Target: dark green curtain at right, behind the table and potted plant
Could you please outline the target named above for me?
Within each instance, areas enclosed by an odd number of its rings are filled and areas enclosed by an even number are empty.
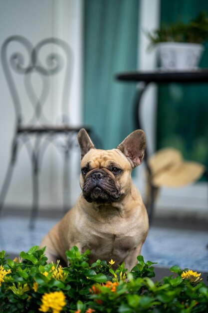
[[[208,11],[207,0],[161,0],[161,22],[186,22],[201,10]],[[208,42],[200,67],[208,67]],[[208,84],[161,86],[157,125],[157,148],[174,146],[208,165]]]

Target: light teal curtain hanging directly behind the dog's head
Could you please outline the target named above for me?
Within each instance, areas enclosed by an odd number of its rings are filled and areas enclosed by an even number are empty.
[[[136,70],[139,0],[84,1],[83,120],[102,147],[116,147],[134,130],[135,84],[116,81]]]

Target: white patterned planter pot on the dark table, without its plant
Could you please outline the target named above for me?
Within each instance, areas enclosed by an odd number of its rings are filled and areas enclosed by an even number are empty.
[[[161,68],[191,70],[198,67],[204,46],[198,43],[161,42],[156,49]]]

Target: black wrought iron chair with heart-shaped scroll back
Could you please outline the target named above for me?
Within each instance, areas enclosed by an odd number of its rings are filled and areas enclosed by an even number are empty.
[[[12,43],[13,42],[13,43]],[[11,48],[9,47],[15,42],[15,49],[18,47],[19,52],[14,52],[8,56]],[[46,54],[46,47],[53,46],[57,52]],[[22,49],[27,53],[27,61],[23,55]],[[45,51],[46,64],[40,61],[40,51]],[[50,50],[51,51],[51,50]],[[61,52],[61,53],[60,53]],[[48,52],[47,52],[48,53]],[[42,54],[41,54],[42,55]],[[6,193],[11,181],[13,167],[17,158],[19,148],[25,144],[32,165],[32,184],[33,184],[33,200],[30,216],[30,227],[34,226],[34,219],[38,212],[39,185],[38,175],[40,172],[40,164],[43,154],[52,141],[54,145],[61,149],[64,157],[63,183],[65,188],[69,188],[68,164],[71,150],[77,145],[76,135],[80,127],[70,126],[69,120],[69,91],[73,70],[73,53],[69,45],[59,38],[47,38],[38,42],[35,46],[25,37],[14,35],[8,37],[2,44],[1,62],[3,71],[7,80],[8,88],[12,97],[15,109],[15,133],[11,146],[11,158],[7,168],[6,176],[0,192],[0,211],[2,209]],[[65,64],[64,64],[65,62]],[[25,65],[26,63],[26,65]],[[43,107],[48,98],[51,87],[51,76],[64,73],[62,99],[59,122],[55,124],[46,117]],[[32,75],[38,75],[42,80],[42,87],[38,86],[38,90],[33,85]],[[26,121],[23,117],[22,103],[20,94],[14,82],[14,75],[23,78],[25,94],[29,99],[32,107],[32,117]],[[19,79],[18,78],[18,79]],[[42,91],[41,91],[42,90]],[[40,94],[39,97],[37,94]],[[29,104],[27,103],[27,109]],[[86,128],[86,127],[85,127]],[[90,132],[89,128],[86,128]],[[61,136],[61,140],[60,139]],[[64,194],[64,192],[63,192]],[[69,208],[69,196],[63,199],[64,211]]]

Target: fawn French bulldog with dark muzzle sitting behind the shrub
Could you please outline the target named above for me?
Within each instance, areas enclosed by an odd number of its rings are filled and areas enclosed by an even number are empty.
[[[75,206],[45,235],[48,262],[62,258],[76,245],[91,250],[89,263],[97,259],[125,262],[129,270],[148,233],[148,215],[131,171],[142,163],[145,134],[130,133],[115,149],[96,149],[84,128],[78,133],[81,152],[80,194]]]

